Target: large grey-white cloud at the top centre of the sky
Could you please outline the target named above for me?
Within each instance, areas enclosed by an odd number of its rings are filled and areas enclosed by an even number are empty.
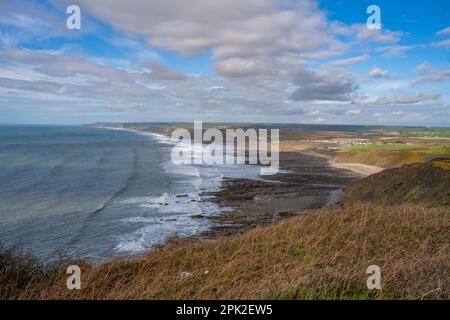
[[[144,1],[82,0],[90,13],[156,47],[220,58],[273,56],[326,46],[326,16],[315,2],[299,0]]]

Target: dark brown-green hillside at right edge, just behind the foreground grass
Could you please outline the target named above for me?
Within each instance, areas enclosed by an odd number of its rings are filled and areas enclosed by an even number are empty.
[[[450,206],[450,159],[404,165],[362,179],[344,193],[344,205],[355,202]]]

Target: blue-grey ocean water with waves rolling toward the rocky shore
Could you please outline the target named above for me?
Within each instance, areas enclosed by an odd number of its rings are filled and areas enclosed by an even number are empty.
[[[256,166],[177,166],[174,141],[83,126],[0,127],[0,242],[45,262],[139,254],[169,236],[207,230],[208,195]],[[189,148],[189,146],[186,146]]]

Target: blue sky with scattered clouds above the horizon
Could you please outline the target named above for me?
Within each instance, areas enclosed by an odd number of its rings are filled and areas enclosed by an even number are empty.
[[[450,126],[449,89],[448,0],[0,1],[0,123]]]

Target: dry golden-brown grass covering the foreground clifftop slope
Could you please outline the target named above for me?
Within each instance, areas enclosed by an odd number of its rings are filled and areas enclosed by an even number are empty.
[[[82,263],[79,291],[67,290],[56,268],[2,298],[449,299],[449,239],[448,207],[357,205],[214,242],[172,240],[134,260]],[[366,287],[372,264],[381,267],[381,291]],[[2,287],[14,287],[6,280],[13,285],[3,277]]]

